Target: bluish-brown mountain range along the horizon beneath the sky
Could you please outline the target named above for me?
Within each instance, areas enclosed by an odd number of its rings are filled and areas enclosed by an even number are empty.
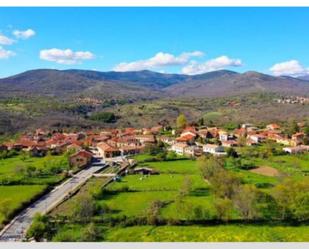
[[[259,72],[219,70],[200,75],[148,70],[98,72],[37,69],[0,79],[0,96],[40,95],[129,99],[219,97],[252,92],[309,95],[308,78],[275,77]]]

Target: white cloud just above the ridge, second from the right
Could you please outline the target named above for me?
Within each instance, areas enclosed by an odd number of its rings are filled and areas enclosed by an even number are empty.
[[[203,63],[198,63],[196,61],[191,61],[188,65],[182,68],[182,73],[194,75],[202,74],[211,71],[221,70],[227,67],[240,67],[242,62],[240,59],[229,58],[225,55],[205,61]]]

